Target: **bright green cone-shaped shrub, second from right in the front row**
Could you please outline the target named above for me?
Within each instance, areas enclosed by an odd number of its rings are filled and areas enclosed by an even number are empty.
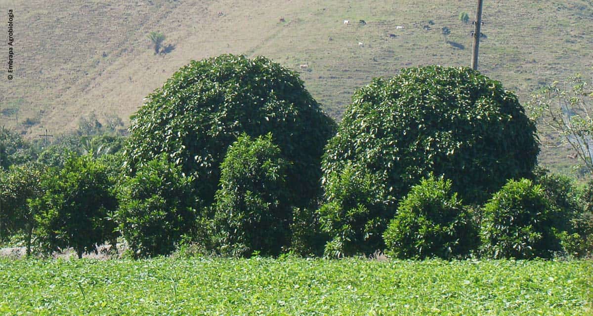
[[[470,214],[451,191],[451,180],[432,176],[400,202],[383,238],[385,253],[400,259],[466,256],[479,240]]]

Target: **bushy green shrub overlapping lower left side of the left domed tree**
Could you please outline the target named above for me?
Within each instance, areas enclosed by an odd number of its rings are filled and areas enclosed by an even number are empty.
[[[192,180],[163,154],[123,181],[116,220],[135,257],[170,254],[192,232],[199,206]]]

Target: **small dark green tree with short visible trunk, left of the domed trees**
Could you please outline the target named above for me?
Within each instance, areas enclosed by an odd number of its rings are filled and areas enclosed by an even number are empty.
[[[33,200],[39,237],[48,251],[72,247],[78,258],[104,242],[107,216],[117,207],[107,168],[90,156],[69,157],[62,170],[42,179],[44,194]]]

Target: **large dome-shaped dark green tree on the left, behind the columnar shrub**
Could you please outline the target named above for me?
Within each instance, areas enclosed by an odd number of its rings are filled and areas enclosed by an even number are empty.
[[[241,133],[272,133],[289,162],[294,205],[318,194],[323,147],[335,123],[321,111],[295,72],[263,57],[222,55],[179,69],[132,116],[127,164],[133,172],[165,152],[212,203],[219,165]]]

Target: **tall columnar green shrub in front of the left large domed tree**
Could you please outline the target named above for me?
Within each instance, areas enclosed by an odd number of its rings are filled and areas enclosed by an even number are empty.
[[[222,254],[277,255],[288,247],[292,209],[287,168],[271,134],[255,139],[242,135],[232,143],[216,191],[215,244]]]

